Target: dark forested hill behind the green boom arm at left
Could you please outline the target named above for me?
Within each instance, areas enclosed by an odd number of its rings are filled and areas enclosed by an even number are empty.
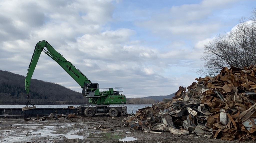
[[[37,79],[31,79],[30,98],[32,104],[84,104],[86,100],[82,93]],[[26,103],[25,77],[0,70],[0,104]]]

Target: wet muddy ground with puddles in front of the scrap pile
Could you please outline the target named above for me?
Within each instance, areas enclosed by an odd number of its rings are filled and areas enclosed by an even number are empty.
[[[195,135],[174,135],[146,133],[125,127],[122,118],[108,116],[61,118],[60,120],[0,119],[0,142],[15,143],[233,143],[235,141],[197,137]],[[101,128],[96,129],[101,125]],[[104,131],[107,130],[107,131]],[[249,143],[255,141],[242,141]]]

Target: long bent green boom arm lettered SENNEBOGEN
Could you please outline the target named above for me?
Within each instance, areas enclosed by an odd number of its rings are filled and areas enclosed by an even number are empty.
[[[45,50],[44,47],[48,50]],[[82,88],[84,83],[92,83],[85,75],[83,75],[79,69],[77,69],[72,63],[67,61],[60,53],[58,53],[47,41],[39,41],[36,46],[30,61],[27,76],[25,78],[25,89],[27,95],[29,93],[29,86],[32,75],[36,68],[36,64],[40,57],[41,52],[44,50],[45,54],[50,56],[54,61],[56,61]]]

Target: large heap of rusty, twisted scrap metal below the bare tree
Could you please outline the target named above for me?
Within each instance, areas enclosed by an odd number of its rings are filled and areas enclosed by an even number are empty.
[[[171,101],[139,109],[126,122],[145,132],[255,140],[256,67],[225,67],[215,77],[196,80],[179,87]]]

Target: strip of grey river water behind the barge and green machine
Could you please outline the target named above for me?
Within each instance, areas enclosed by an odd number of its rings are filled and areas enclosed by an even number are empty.
[[[26,105],[0,105],[0,108],[23,108]],[[36,108],[68,108],[68,106],[78,107],[80,105],[35,105]],[[128,113],[136,113],[136,110],[145,108],[148,106],[152,106],[152,104],[127,104],[127,112]]]

